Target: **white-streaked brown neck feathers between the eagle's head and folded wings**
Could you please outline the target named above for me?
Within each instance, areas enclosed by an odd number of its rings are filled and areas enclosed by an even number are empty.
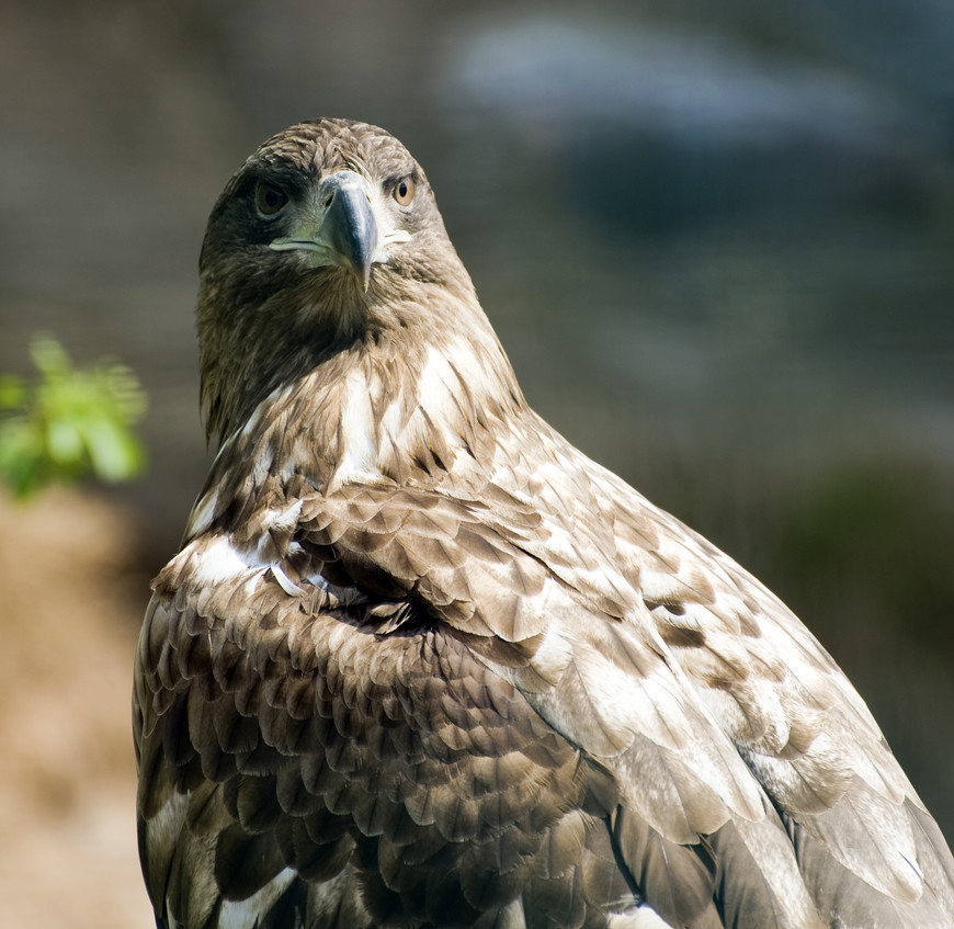
[[[489,468],[493,435],[525,409],[489,325],[339,351],[274,387],[225,439],[188,537],[238,523],[255,500],[348,483],[436,486]]]

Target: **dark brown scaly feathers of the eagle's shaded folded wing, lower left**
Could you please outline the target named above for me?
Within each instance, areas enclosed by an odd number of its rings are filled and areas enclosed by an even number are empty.
[[[422,650],[418,631],[368,648],[361,623],[306,613],[254,567],[232,582],[270,590],[245,602],[243,648],[234,616],[197,621],[198,590],[177,612],[160,586],[137,659],[144,869],[174,920],[237,919],[240,906],[274,919],[334,895],[365,920],[397,900],[435,918],[452,897],[447,913],[476,919],[555,880],[537,873],[545,838],[602,828],[580,812],[599,805],[579,750],[462,641],[435,631]],[[561,899],[595,911],[578,877],[559,880]],[[357,886],[363,903],[341,896]]]

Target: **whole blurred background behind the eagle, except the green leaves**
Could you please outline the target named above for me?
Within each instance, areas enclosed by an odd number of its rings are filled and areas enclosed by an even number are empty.
[[[0,0],[0,372],[50,331],[149,398],[136,482],[0,500],[0,924],[150,925],[198,248],[318,115],[408,145],[531,403],[803,616],[954,836],[952,48],[950,0]]]

